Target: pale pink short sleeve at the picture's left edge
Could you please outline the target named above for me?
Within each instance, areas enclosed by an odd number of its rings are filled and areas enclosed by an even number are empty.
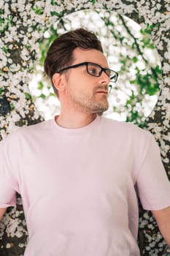
[[[0,208],[16,206],[16,143],[11,136],[0,142]]]

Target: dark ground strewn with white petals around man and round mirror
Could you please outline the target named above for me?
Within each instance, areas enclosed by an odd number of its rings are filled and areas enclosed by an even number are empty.
[[[28,81],[41,58],[39,41],[62,17],[78,10],[112,10],[132,18],[152,38],[161,59],[163,80],[158,102],[145,120],[145,129],[155,136],[163,164],[170,177],[170,4],[164,0],[0,1],[0,139],[23,125],[43,120],[36,110]],[[23,255],[27,231],[22,203],[8,209],[0,224],[0,255]],[[139,246],[142,255],[169,255],[150,212],[140,211]]]

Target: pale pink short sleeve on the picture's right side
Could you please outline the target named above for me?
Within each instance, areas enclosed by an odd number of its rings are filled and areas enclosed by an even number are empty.
[[[161,154],[155,139],[147,134],[144,159],[136,177],[136,187],[142,206],[156,211],[170,206],[170,182],[161,161]]]

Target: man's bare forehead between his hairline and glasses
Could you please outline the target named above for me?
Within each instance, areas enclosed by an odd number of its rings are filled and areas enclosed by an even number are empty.
[[[73,63],[78,64],[80,62],[89,61],[101,65],[101,67],[108,67],[107,59],[101,51],[96,49],[80,49],[73,50]]]

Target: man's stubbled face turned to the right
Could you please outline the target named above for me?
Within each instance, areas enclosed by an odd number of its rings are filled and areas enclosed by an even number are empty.
[[[73,51],[72,65],[85,61],[108,68],[107,59],[99,50],[76,48]],[[63,75],[66,81],[65,95],[75,110],[82,113],[103,113],[108,109],[107,96],[110,80],[105,72],[95,77],[88,74],[86,66],[81,66],[68,69]]]

